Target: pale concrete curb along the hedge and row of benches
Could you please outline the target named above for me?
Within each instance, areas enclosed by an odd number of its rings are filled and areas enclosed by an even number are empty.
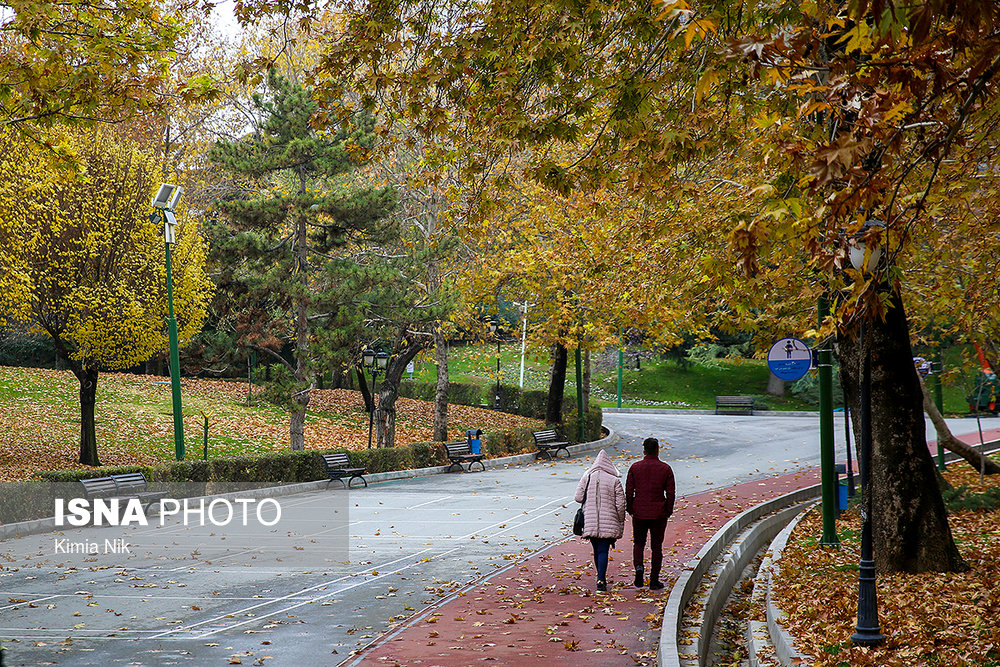
[[[620,436],[608,428],[604,427],[608,431],[608,435],[601,438],[600,440],[594,440],[591,442],[581,442],[577,445],[570,445],[566,449],[569,451],[570,456],[584,454],[596,449],[601,449],[603,447],[609,447],[616,442],[618,442]],[[487,468],[502,468],[511,465],[523,465],[526,463],[534,462],[535,454],[517,454],[514,456],[503,456],[495,459],[485,459],[483,463],[486,464]],[[365,475],[365,479],[368,480],[369,484],[377,484],[379,482],[391,482],[399,479],[411,479],[414,477],[427,477],[429,475],[441,475],[446,474],[450,466],[432,466],[430,468],[414,468],[412,470],[393,470],[390,472],[379,472],[372,473],[371,475]],[[312,482],[300,482],[297,484],[284,484],[281,486],[269,486],[260,489],[250,489],[244,491],[238,491],[233,493],[223,493],[212,496],[204,496],[205,498],[252,498],[254,500],[260,500],[261,498],[274,498],[279,496],[289,496],[296,493],[305,493],[307,491],[316,491],[320,489],[325,489],[329,486],[327,480],[321,479]],[[353,490],[357,490],[358,487],[352,487]],[[0,524],[0,541],[7,540],[12,537],[23,537],[27,535],[37,535],[38,533],[52,533],[57,530],[61,530],[62,527],[56,526],[55,517],[47,517],[44,519],[32,519],[31,521],[19,521],[17,523]]]

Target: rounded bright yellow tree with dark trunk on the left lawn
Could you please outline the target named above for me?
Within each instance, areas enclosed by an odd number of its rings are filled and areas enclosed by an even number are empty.
[[[149,218],[153,156],[111,130],[67,140],[67,179],[28,139],[0,134],[0,324],[51,336],[81,383],[80,462],[98,464],[94,398],[100,370],[129,368],[166,348],[163,230]],[[197,227],[181,225],[174,304],[182,341],[201,328],[211,283]]]

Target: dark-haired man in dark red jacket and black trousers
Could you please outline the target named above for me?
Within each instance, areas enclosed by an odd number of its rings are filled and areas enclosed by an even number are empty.
[[[674,512],[674,471],[659,459],[660,443],[646,438],[642,443],[643,459],[633,463],[625,480],[625,511],[632,515],[632,562],[635,564],[635,585],[642,586],[643,552],[646,534],[652,551],[649,571],[650,590],[663,588],[660,568],[663,566],[663,533],[667,519]]]

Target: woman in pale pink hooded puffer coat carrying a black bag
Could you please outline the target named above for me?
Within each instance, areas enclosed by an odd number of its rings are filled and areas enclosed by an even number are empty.
[[[597,590],[606,591],[608,555],[615,540],[625,532],[625,489],[618,469],[603,449],[580,479],[576,502],[583,503],[583,537],[589,538],[594,547]]]

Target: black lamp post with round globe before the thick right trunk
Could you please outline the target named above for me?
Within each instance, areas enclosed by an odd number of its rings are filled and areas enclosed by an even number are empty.
[[[869,267],[877,265],[882,249],[874,245],[870,251],[866,248],[864,236],[872,227],[884,227],[879,220],[868,220],[862,228],[857,248],[851,248],[851,264],[860,272],[867,272]],[[857,646],[881,646],[885,643],[885,635],[878,622],[878,595],[875,588],[875,553],[872,545],[872,424],[871,424],[871,346],[868,344],[868,331],[864,322],[861,323],[861,387],[858,392],[858,402],[861,404],[861,441],[859,445],[859,463],[861,464],[861,487],[864,493],[861,505],[861,562],[858,567],[858,625],[851,635],[851,641]]]

